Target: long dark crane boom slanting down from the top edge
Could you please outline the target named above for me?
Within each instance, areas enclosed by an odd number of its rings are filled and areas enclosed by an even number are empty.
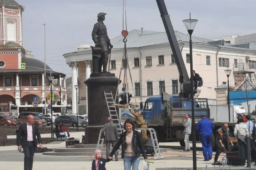
[[[178,71],[180,74],[180,82],[183,83],[184,81],[188,81],[189,80],[189,76],[186,70],[186,66],[185,63],[183,61],[181,52],[180,52],[180,48],[173,30],[173,26],[170,20],[170,16],[167,12],[164,0],[156,0],[157,5],[158,5],[158,9],[159,12],[161,14],[161,18],[163,20],[164,23],[164,28],[173,52],[173,57],[175,59],[176,65],[178,67]]]

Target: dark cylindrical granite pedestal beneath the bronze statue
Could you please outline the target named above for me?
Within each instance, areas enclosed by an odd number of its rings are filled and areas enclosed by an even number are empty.
[[[118,78],[114,73],[92,73],[85,82],[88,91],[88,126],[85,128],[85,144],[97,144],[99,131],[108,122],[108,106],[104,96],[115,96]]]

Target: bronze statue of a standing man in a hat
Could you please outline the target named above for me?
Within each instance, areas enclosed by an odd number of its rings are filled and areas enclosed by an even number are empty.
[[[108,65],[108,54],[110,53],[111,45],[110,39],[108,38],[107,28],[103,21],[105,20],[106,13],[100,12],[98,13],[98,22],[94,24],[92,30],[92,40],[95,43],[95,47],[101,47],[101,57],[99,59],[99,72],[100,73],[108,73],[107,65]],[[103,71],[101,70],[103,65]]]

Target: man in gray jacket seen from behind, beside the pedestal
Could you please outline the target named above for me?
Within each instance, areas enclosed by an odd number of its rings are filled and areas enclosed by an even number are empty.
[[[105,141],[106,141],[106,158],[108,159],[110,144],[114,148],[115,142],[118,140],[118,133],[117,133],[117,125],[112,122],[112,118],[108,118],[108,123],[104,124],[104,128],[102,132],[105,133]],[[118,153],[115,152],[115,159],[118,161]]]

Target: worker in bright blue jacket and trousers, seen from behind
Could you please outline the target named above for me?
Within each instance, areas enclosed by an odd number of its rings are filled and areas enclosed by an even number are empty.
[[[201,137],[204,161],[209,161],[212,158],[211,138],[214,125],[211,120],[205,117],[205,114],[201,114],[201,120],[197,123],[195,129]]]

